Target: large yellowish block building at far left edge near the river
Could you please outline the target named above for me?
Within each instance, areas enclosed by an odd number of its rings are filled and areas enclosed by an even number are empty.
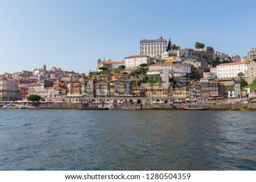
[[[0,100],[10,101],[19,99],[18,82],[9,78],[0,78]]]

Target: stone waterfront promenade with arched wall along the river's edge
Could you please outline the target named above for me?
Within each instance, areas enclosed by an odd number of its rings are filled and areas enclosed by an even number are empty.
[[[240,108],[256,108],[256,103],[243,103],[245,99],[222,99],[209,100],[205,98],[70,98],[67,101],[42,101],[28,103],[28,108],[33,109],[75,109],[82,103],[97,105],[99,108],[141,110],[141,109],[170,109],[176,110],[181,107],[209,108],[210,110],[238,110]],[[26,102],[26,101],[24,101]]]

